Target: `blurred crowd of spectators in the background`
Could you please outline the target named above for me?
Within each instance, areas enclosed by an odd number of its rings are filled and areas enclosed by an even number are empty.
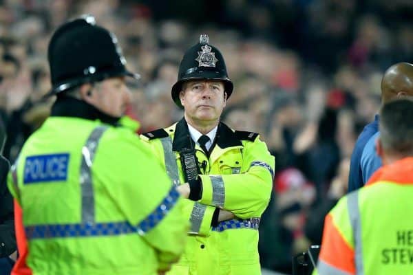
[[[127,67],[140,132],[169,126],[178,64],[200,34],[226,59],[234,93],[223,120],[260,133],[276,159],[273,199],[260,225],[263,267],[321,242],[324,214],[346,193],[354,141],[380,105],[393,63],[413,60],[410,0],[3,0],[0,116],[13,162],[48,115],[47,44],[67,19],[92,14],[112,30]],[[74,56],[76,58],[76,56]]]

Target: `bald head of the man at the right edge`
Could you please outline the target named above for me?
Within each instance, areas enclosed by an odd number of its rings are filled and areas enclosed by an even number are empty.
[[[413,96],[413,65],[406,62],[392,65],[381,80],[383,104],[404,96]]]

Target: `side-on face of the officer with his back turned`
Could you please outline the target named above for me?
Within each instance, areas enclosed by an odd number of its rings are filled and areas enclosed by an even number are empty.
[[[116,118],[120,118],[131,102],[131,94],[125,85],[125,78],[107,78],[94,86],[92,91],[94,106]]]

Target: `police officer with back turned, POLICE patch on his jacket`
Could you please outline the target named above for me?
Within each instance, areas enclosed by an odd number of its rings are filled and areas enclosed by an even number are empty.
[[[51,117],[9,175],[33,274],[158,274],[178,261],[182,201],[147,145],[120,125],[129,104],[116,36],[83,17],[48,49]],[[14,274],[19,274],[14,273]]]

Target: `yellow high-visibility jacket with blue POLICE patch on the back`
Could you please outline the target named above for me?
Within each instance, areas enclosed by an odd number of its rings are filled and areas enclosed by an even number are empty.
[[[35,275],[154,275],[182,253],[183,199],[126,127],[48,118],[24,144],[8,186]]]

